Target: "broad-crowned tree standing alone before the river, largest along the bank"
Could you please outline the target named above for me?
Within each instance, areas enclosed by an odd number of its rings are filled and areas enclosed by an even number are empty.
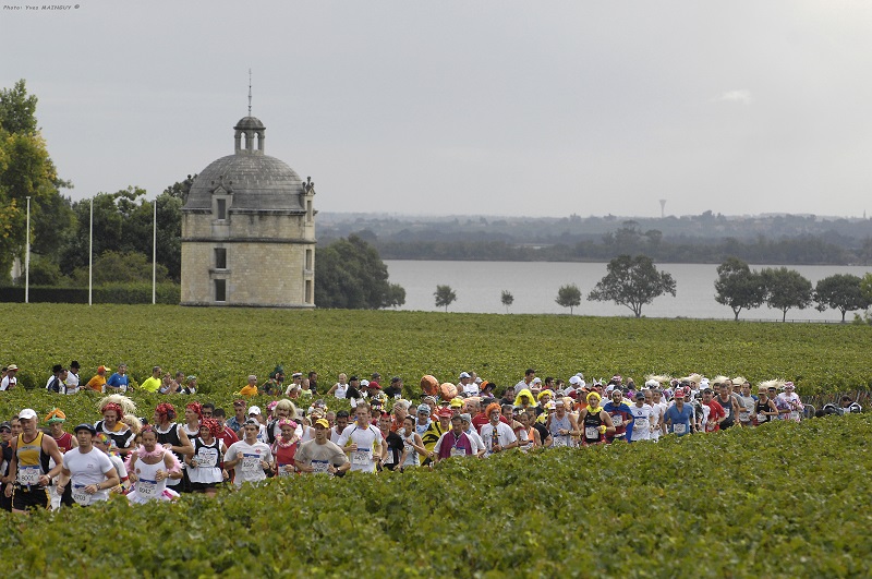
[[[588,294],[591,301],[613,301],[632,310],[641,317],[642,306],[664,293],[675,297],[675,279],[669,274],[657,272],[647,255],[619,255],[607,266],[608,273]]]

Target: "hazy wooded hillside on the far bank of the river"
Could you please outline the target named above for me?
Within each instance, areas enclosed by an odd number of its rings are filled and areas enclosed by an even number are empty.
[[[644,253],[661,263],[872,264],[872,219],[813,215],[664,218],[412,217],[319,214],[318,240],[356,233],[385,260],[607,261]]]

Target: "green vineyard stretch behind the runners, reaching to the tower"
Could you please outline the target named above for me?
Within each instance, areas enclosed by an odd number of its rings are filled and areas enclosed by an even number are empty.
[[[121,361],[137,382],[153,365],[181,370],[218,398],[276,364],[317,371],[322,388],[340,372],[398,375],[411,387],[423,374],[457,382],[464,370],[506,386],[528,367],[637,383],[649,373],[783,377],[801,395],[872,386],[872,331],[855,325],[77,304],[0,304],[0,315],[2,362],[29,386],[71,360],[84,381]]]

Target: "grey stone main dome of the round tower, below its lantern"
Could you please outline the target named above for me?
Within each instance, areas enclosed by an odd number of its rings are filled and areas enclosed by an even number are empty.
[[[305,212],[302,179],[275,157],[235,154],[213,161],[194,179],[184,209],[211,210],[211,195],[219,186],[233,195],[231,213]]]

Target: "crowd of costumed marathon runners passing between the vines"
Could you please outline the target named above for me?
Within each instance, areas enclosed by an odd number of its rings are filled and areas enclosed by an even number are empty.
[[[0,389],[15,386],[16,370],[14,364],[4,369]],[[46,388],[77,393],[77,381],[68,386],[69,369],[60,370],[56,366]],[[2,508],[25,512],[87,506],[110,494],[132,503],[172,500],[183,493],[215,496],[222,485],[239,488],[269,477],[429,469],[443,460],[512,449],[656,442],[666,435],[799,422],[807,411],[794,384],[784,381],[753,388],[742,377],[710,381],[693,374],[649,376],[638,387],[621,376],[590,384],[582,374],[567,382],[543,381],[531,369],[497,395],[494,384],[463,372],[457,384],[424,376],[415,405],[403,398],[399,377],[383,388],[377,373],[368,381],[340,374],[319,394],[316,373],[294,373],[286,385],[277,366],[264,384],[249,376],[228,415],[222,408],[194,401],[194,376],[182,385],[155,366],[154,384],[144,381],[140,388],[187,396],[168,396],[150,417],[137,418],[136,406],[125,396],[133,387],[130,382],[110,385],[126,369],[106,379],[108,370],[100,366],[97,374],[104,379],[96,386],[110,394],[99,401],[101,419],[96,423],[68,432],[60,408],[41,421],[26,408],[0,423]],[[249,397],[263,394],[282,398],[264,409],[249,403]],[[351,410],[329,410],[330,399],[347,399]],[[847,398],[839,406],[839,412],[860,411]]]

